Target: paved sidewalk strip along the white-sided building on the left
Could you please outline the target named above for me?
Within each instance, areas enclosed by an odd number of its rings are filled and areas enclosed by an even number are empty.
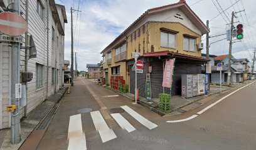
[[[37,106],[27,118],[21,119],[21,142],[19,144],[11,144],[11,129],[5,129],[0,131],[0,135],[4,136],[0,138],[0,150],[16,150],[24,143],[29,134],[41,125],[41,121],[45,119],[45,116],[51,111],[56,103],[60,101],[65,92],[67,91],[67,85],[62,88],[58,93],[50,96],[49,99],[43,101]],[[45,124],[47,126],[47,124]],[[3,139],[2,139],[3,138]]]

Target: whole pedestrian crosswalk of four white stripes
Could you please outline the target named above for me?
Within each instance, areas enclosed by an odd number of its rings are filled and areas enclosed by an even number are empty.
[[[129,106],[121,106],[125,112],[130,114],[134,119],[139,121],[142,125],[144,125],[148,129],[154,129],[157,127],[156,124],[147,120],[141,114],[137,113],[133,109],[129,108]],[[93,111],[90,113],[92,117],[93,124],[95,126],[96,131],[99,132],[100,138],[102,139],[102,143],[110,141],[112,139],[117,138],[114,131],[107,126],[104,118],[100,111]],[[125,119],[121,114],[115,113],[111,114],[112,118],[119,124],[120,128],[125,129],[128,133],[132,131],[136,131],[136,128],[132,126],[127,119]],[[86,138],[82,129],[82,119],[81,114],[77,114],[74,116],[70,116],[70,123],[68,127],[68,150],[71,149],[87,149],[86,146]]]

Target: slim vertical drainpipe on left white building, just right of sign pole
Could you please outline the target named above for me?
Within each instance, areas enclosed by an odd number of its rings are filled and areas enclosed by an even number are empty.
[[[28,24],[28,0],[26,0],[26,22]],[[28,59],[29,59],[29,50],[28,50],[28,31],[25,32],[25,72],[28,72]],[[28,82],[26,85],[26,106],[24,106],[24,118],[27,116],[28,111]]]

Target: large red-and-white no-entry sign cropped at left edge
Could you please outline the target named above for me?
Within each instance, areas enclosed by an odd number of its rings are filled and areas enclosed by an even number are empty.
[[[9,36],[21,36],[28,29],[23,17],[13,12],[0,13],[0,31]]]

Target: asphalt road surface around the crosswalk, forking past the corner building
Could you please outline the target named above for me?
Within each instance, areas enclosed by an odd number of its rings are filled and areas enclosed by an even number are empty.
[[[161,117],[139,104],[102,88],[86,79],[78,79],[71,93],[61,101],[37,149],[68,149],[67,140],[70,116],[81,114],[82,130],[87,149],[256,149],[256,83],[237,91],[198,117],[181,123],[166,123],[195,114],[202,107],[189,113]],[[108,97],[109,96],[109,97]],[[112,97],[114,96],[114,97]],[[218,100],[216,97],[215,101]],[[221,98],[221,97],[220,97]],[[148,129],[133,118],[120,113],[134,128],[128,133],[110,117],[111,108],[128,106],[157,127]],[[206,107],[206,106],[204,106]],[[79,109],[99,111],[117,138],[102,143],[90,113]],[[79,139],[78,139],[79,141]],[[78,142],[77,142],[78,143]]]

